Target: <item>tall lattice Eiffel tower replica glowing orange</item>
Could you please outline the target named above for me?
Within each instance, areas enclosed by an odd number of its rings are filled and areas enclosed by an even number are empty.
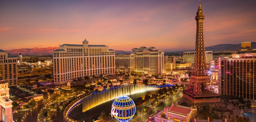
[[[183,97],[178,101],[179,105],[195,106],[198,111],[201,111],[202,107],[206,105],[216,109],[222,107],[220,95],[214,92],[210,76],[207,75],[203,28],[204,18],[205,16],[199,3],[195,17],[196,49],[194,68],[187,89],[183,90]]]

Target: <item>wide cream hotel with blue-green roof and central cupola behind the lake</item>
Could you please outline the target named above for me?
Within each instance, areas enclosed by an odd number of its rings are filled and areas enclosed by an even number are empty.
[[[54,84],[61,85],[80,77],[114,74],[115,51],[106,45],[62,44],[53,51]]]

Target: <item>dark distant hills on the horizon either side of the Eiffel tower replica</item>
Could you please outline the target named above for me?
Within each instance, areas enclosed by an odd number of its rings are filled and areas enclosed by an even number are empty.
[[[218,44],[209,47],[205,47],[206,51],[237,51],[237,49],[241,49],[240,44]],[[256,42],[251,42],[251,49],[256,49]],[[174,52],[189,52],[195,50],[186,50],[186,51],[174,51]]]

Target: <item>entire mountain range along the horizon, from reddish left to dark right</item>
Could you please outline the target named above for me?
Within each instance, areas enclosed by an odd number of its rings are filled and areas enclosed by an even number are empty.
[[[19,53],[22,55],[51,55],[52,51],[58,49],[59,47],[48,47],[48,48],[22,48],[22,49],[12,49],[7,50],[12,56],[17,56]],[[209,47],[205,47],[206,51],[237,51],[241,49],[241,44],[218,44]],[[256,42],[251,42],[251,49],[256,49]],[[194,51],[194,50],[186,50]],[[164,52],[186,52],[186,51],[164,51]],[[129,54],[132,52],[115,50],[115,54]]]

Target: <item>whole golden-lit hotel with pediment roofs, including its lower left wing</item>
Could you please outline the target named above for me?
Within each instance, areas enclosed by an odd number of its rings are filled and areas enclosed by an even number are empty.
[[[133,48],[132,54],[115,55],[117,72],[164,75],[164,52],[155,47]]]

